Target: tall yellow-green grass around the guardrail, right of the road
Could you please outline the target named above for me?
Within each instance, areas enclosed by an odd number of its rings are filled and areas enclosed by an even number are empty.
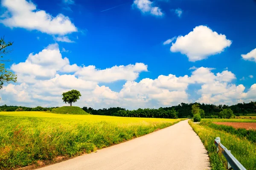
[[[221,138],[221,143],[231,150],[231,153],[247,170],[256,170],[256,144],[244,137],[216,130],[207,125],[198,125],[189,121],[189,124],[198,134],[208,151],[212,170],[226,170],[227,161],[222,154],[218,154],[214,139]]]

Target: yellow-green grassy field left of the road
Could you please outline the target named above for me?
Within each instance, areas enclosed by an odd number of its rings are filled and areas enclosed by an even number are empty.
[[[0,112],[0,169],[73,157],[168,127],[182,119]]]

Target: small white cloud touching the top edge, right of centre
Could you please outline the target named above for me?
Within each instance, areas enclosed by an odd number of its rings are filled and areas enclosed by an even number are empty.
[[[157,6],[153,6],[150,0],[134,0],[133,6],[136,6],[142,13],[149,13],[155,16],[162,16],[163,12]]]

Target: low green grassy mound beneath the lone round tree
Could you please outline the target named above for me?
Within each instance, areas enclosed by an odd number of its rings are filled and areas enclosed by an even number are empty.
[[[63,106],[60,108],[52,109],[52,113],[59,113],[59,114],[89,114],[85,112],[83,109],[76,107],[76,106]]]

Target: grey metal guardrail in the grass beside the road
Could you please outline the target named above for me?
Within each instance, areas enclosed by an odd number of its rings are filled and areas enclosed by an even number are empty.
[[[217,152],[221,150],[225,158],[227,159],[227,169],[228,170],[246,170],[245,167],[231,154],[231,151],[221,144],[221,138],[217,137],[214,140],[214,144],[217,147]]]

